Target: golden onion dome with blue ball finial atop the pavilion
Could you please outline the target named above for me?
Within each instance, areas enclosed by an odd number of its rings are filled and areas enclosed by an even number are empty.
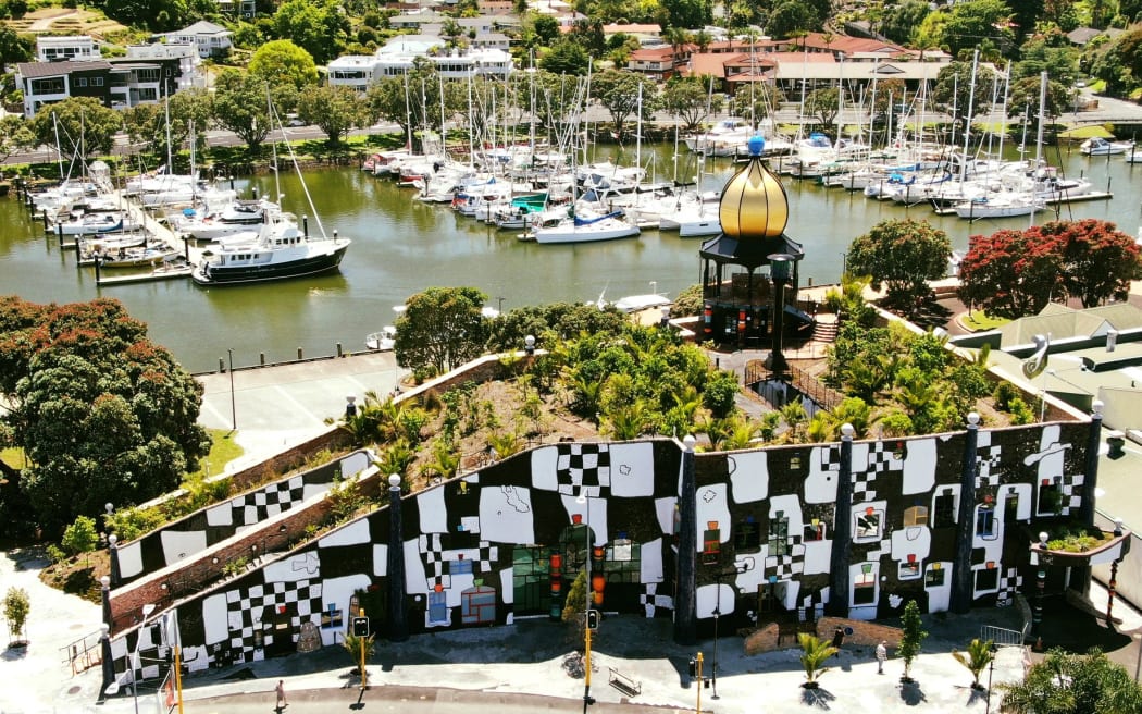
[[[739,241],[777,238],[789,223],[789,196],[762,163],[765,139],[751,137],[748,146],[749,161],[722,188],[722,232]]]

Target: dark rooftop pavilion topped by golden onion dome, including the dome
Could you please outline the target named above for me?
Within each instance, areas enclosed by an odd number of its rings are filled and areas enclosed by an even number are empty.
[[[749,141],[749,160],[722,190],[722,233],[702,243],[702,340],[738,348],[770,348],[785,367],[781,340],[809,336],[813,318],[797,307],[801,243],[785,234],[789,198],[762,163],[765,142]],[[778,310],[777,305],[782,310]]]

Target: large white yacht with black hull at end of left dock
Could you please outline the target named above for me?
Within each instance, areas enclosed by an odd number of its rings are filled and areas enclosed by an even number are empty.
[[[270,117],[275,115],[271,105]],[[293,168],[298,169],[292,147],[289,151]],[[275,145],[275,163],[276,160]],[[301,175],[300,170],[298,175]],[[309,201],[309,209],[316,216],[317,211],[309,191],[305,187],[304,177],[301,187],[306,200]],[[316,220],[321,232],[319,238],[309,235],[308,220],[304,220],[301,227],[298,227],[290,214],[270,209],[263,209],[263,214],[262,227],[251,234],[250,240],[232,240],[208,247],[203,251],[202,259],[191,272],[194,282],[201,286],[222,286],[300,278],[333,271],[340,265],[352,242],[347,238],[339,238],[336,231],[332,236],[327,236],[320,218]]]

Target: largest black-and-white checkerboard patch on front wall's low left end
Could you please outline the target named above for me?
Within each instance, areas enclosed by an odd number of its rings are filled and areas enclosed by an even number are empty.
[[[265,645],[273,644],[272,631],[263,624],[263,618],[286,608],[290,613],[290,629],[298,632],[301,623],[321,612],[321,581],[297,580],[293,583],[268,583],[255,585],[243,593],[226,593],[226,615],[230,618],[230,647],[249,661],[255,650],[255,631],[265,633]]]

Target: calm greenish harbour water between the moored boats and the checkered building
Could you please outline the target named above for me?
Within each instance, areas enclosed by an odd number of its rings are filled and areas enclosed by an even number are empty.
[[[682,150],[685,152],[685,150]],[[633,152],[628,152],[633,154]],[[657,155],[659,176],[669,178],[673,146],[644,147],[643,160]],[[597,160],[602,160],[601,152]],[[1116,222],[1135,234],[1140,225],[1142,165],[1121,157],[1085,159],[1077,152],[1048,157],[1068,175],[1085,174],[1097,188],[1108,177],[1115,198],[1076,203],[1064,218],[1094,217]],[[683,157],[681,163],[689,162]],[[719,190],[733,173],[725,160],[707,163],[705,190]],[[691,167],[687,171],[693,174]],[[927,218],[951,236],[957,249],[973,233],[1028,225],[1027,218],[979,220],[940,217],[917,206],[904,209],[864,199],[811,180],[783,177],[790,199],[787,234],[801,241],[806,257],[802,275],[814,283],[839,279],[843,254],[853,238],[887,218]],[[75,268],[74,256],[45,236],[15,199],[0,199],[0,292],[47,303],[87,300],[98,295],[122,300],[146,321],[151,337],[166,345],[192,371],[216,369],[234,350],[235,364],[252,364],[258,353],[268,361],[363,348],[364,336],[393,322],[393,306],[431,286],[475,286],[502,308],[554,300],[595,300],[659,291],[675,295],[698,282],[700,239],[644,231],[640,238],[594,244],[539,246],[517,241],[516,232],[489,228],[447,206],[425,204],[413,191],[396,187],[357,169],[313,170],[306,184],[325,230],[353,239],[340,272],[317,279],[203,289],[190,280],[96,288],[94,274]],[[272,176],[239,182],[275,192]],[[283,204],[299,216],[308,212],[296,176],[282,176]],[[1037,217],[1046,220],[1046,214]],[[311,231],[314,231],[311,218]]]

